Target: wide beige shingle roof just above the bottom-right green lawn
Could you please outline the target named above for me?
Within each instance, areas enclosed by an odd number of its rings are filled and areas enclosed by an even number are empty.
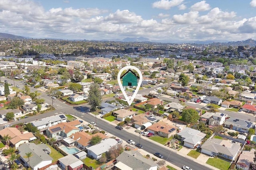
[[[208,139],[202,146],[202,149],[210,150],[215,153],[222,153],[228,156],[236,156],[240,149],[239,143],[232,143],[222,139]]]

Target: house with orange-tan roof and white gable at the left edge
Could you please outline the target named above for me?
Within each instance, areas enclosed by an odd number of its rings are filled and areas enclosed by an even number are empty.
[[[10,140],[8,141],[10,147],[17,149],[23,143],[29,143],[36,139],[33,133],[19,131],[16,127],[6,127],[0,131],[0,136],[3,138],[5,135],[9,135]]]

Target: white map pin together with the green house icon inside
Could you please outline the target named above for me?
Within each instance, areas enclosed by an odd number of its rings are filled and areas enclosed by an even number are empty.
[[[121,74],[124,70],[127,70],[127,72],[121,76]],[[136,74],[133,72],[133,70],[138,72],[140,77],[136,76]],[[123,80],[123,83],[121,82],[121,78]],[[139,78],[139,81],[137,80],[138,78]],[[124,98],[126,99],[129,106],[131,106],[134,98],[136,97],[136,95],[140,89],[140,85],[142,83],[142,73],[136,66],[125,66],[125,67],[121,68],[121,70],[118,72],[117,81],[118,81],[120,89],[124,95]],[[137,86],[135,92],[133,93],[133,95],[130,99],[125,92],[125,89],[124,89],[125,86]]]

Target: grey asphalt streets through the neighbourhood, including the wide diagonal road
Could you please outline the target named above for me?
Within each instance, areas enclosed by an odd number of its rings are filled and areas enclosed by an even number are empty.
[[[4,80],[8,80],[8,82],[10,83],[11,81],[13,80],[10,80],[8,78],[2,78],[2,81]],[[13,84],[13,83],[12,83]],[[20,88],[23,88],[24,84],[22,84],[21,81],[17,81],[15,80],[15,85],[19,84],[20,85]],[[161,86],[164,86],[164,85],[160,85],[160,86],[156,86],[154,88],[148,88],[148,89],[144,89],[144,90],[140,90],[139,93],[140,94],[148,94],[151,90],[154,90],[155,88],[157,87],[161,87]],[[36,91],[36,89],[34,88],[30,88],[30,91],[31,92],[34,92]],[[131,93],[132,94],[132,93]],[[120,95],[122,96],[122,95]],[[45,93],[41,92],[41,96],[40,98],[44,98],[46,100],[46,102],[48,104],[51,104],[52,102],[52,99],[51,99],[51,96],[47,96]],[[103,101],[106,101],[106,100],[114,100],[115,98],[109,98],[109,99],[105,99]],[[169,100],[170,102],[173,102],[173,99],[171,98],[166,98],[166,97],[163,97],[161,96],[160,99],[162,100]],[[49,117],[51,115],[54,115],[54,114],[58,114],[58,113],[64,113],[64,114],[73,114],[73,115],[76,115],[77,117],[79,117],[80,119],[83,119],[84,121],[87,121],[87,122],[96,122],[97,124],[97,127],[99,127],[100,129],[104,129],[104,131],[107,131],[108,133],[110,134],[113,134],[115,135],[116,137],[119,137],[121,139],[124,139],[124,140],[128,140],[128,139],[132,139],[134,140],[136,143],[139,143],[139,137],[132,134],[132,133],[128,133],[126,131],[119,131],[118,129],[115,129],[113,125],[111,125],[110,123],[107,123],[106,121],[103,121],[101,119],[98,119],[88,113],[86,113],[86,110],[89,108],[88,105],[83,105],[83,106],[76,106],[76,107],[72,107],[72,106],[69,106],[57,99],[53,100],[54,101],[54,107],[56,107],[56,110],[55,111],[52,111],[52,112],[48,112],[48,113],[44,113],[44,114],[41,114],[41,115],[36,115],[36,116],[33,116],[33,117],[28,117],[26,119],[22,119],[20,121],[14,121],[14,122],[11,122],[10,125],[14,125],[14,124],[17,124],[17,123],[25,123],[25,122],[30,122],[30,121],[35,121],[36,119],[42,119],[44,117]],[[176,100],[177,102],[177,100]],[[200,105],[198,104],[191,104],[191,103],[188,103],[186,102],[186,105],[188,106],[196,106],[196,107],[199,107],[200,108]],[[243,119],[254,119],[253,116],[251,115],[247,115],[247,114],[242,114],[242,113],[231,113],[229,111],[225,111],[224,113],[228,113],[228,115],[232,115],[233,116],[241,116],[241,118]],[[237,117],[237,118],[239,118]],[[3,128],[3,125],[0,126],[0,128]],[[125,141],[124,141],[125,142]],[[168,149],[165,149],[163,147],[161,147],[160,145],[156,145],[152,142],[150,142],[150,140],[145,140],[145,139],[140,139],[140,143],[143,145],[143,149],[146,150],[147,152],[151,153],[151,154],[154,154],[155,152],[160,152],[163,156],[164,156],[164,160],[178,166],[178,167],[182,167],[184,165],[186,166],[190,166],[190,168],[194,169],[194,170],[210,170],[210,168],[207,168],[206,166],[203,166],[201,164],[198,164],[188,158],[185,158],[183,156],[180,156],[179,154],[176,154],[175,152],[172,152]]]

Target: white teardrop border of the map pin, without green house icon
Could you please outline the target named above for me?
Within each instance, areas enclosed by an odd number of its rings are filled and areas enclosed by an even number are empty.
[[[129,99],[128,95],[126,94],[125,90],[124,90],[124,86],[121,82],[121,74],[124,70],[135,70],[136,72],[138,72],[139,76],[140,76],[140,79],[139,79],[139,82],[137,83],[137,87],[136,87],[136,90],[135,92],[133,93],[132,95],[132,98]],[[142,73],[140,72],[140,70],[136,67],[136,66],[125,66],[123,68],[121,68],[121,70],[118,72],[118,75],[117,75],[117,81],[118,81],[118,84],[120,86],[120,89],[124,95],[124,98],[126,99],[127,103],[129,104],[129,106],[131,106],[135,96],[137,95],[139,89],[140,89],[140,85],[142,83]],[[130,83],[130,82],[129,82]],[[132,86],[132,85],[131,85]]]

